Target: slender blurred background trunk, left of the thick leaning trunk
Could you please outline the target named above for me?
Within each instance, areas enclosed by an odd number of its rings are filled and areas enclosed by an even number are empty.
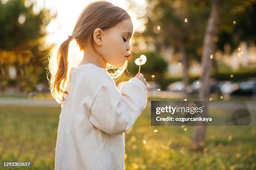
[[[188,62],[187,62],[187,51],[185,49],[185,46],[184,46],[184,41],[180,41],[180,45],[179,45],[179,50],[180,50],[180,53],[182,55],[182,80],[183,80],[183,83],[184,83],[184,88],[185,88],[185,98],[188,97],[188,94],[187,94],[187,85],[188,85]]]

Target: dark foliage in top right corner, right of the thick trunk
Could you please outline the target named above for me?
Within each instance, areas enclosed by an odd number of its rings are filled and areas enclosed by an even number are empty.
[[[224,51],[228,44],[233,52],[241,42],[256,43],[256,0],[226,0],[222,6],[221,15],[225,17],[216,41],[218,49]]]

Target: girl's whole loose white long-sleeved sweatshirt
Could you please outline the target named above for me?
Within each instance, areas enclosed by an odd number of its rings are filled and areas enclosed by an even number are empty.
[[[120,91],[107,70],[74,67],[61,104],[55,170],[123,170],[129,130],[146,106],[146,85],[137,78]]]

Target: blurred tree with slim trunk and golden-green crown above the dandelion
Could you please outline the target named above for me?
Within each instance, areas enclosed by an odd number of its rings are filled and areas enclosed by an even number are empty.
[[[158,51],[173,48],[181,54],[183,82],[189,83],[189,60],[200,60],[202,32],[207,21],[208,0],[148,0],[146,31]],[[187,95],[187,92],[186,92]]]

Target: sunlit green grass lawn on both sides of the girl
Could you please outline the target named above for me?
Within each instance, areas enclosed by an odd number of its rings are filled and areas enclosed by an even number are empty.
[[[23,169],[53,169],[60,111],[60,107],[0,106],[0,167],[19,161],[31,162]],[[151,126],[150,118],[147,107],[125,133],[127,170],[256,169],[256,127],[209,126],[204,150],[194,152],[192,126]]]

